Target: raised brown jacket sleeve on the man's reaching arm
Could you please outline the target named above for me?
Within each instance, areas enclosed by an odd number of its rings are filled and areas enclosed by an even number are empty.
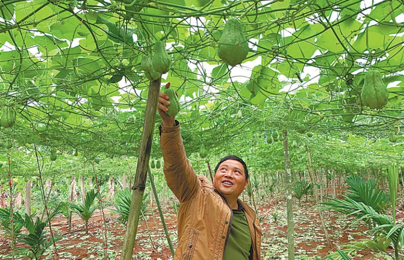
[[[176,121],[174,127],[160,126],[159,129],[167,184],[181,203],[188,201],[196,195],[199,185],[196,173],[185,155],[180,125]]]

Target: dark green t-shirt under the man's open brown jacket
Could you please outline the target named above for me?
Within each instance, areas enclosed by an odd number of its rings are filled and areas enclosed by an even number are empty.
[[[252,240],[250,229],[243,206],[238,204],[238,210],[233,209],[230,235],[224,252],[224,260],[252,259]]]

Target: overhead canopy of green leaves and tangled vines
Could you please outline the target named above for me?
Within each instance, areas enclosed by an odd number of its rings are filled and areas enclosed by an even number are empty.
[[[163,83],[180,97],[190,152],[204,143],[212,155],[281,169],[280,142],[269,151],[265,141],[278,129],[316,148],[319,163],[402,160],[402,13],[400,1],[387,0],[2,1],[0,109],[12,107],[16,120],[0,137],[17,140],[25,163],[30,144],[79,151],[85,161],[136,157],[130,147],[139,147],[148,90],[140,63],[163,40],[173,61]],[[233,68],[217,56],[231,17],[250,47]],[[380,110],[360,101],[370,68],[389,84]],[[296,133],[301,128],[314,137]],[[394,144],[390,131],[398,133]],[[157,138],[156,127],[153,157]],[[300,147],[291,155],[296,167],[304,164]]]

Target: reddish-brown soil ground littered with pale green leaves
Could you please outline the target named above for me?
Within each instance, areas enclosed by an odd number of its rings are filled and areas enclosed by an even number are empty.
[[[256,195],[258,213],[262,216],[262,258],[263,259],[287,259],[287,221],[286,202],[284,195],[278,195],[275,199],[271,195]],[[269,198],[269,199],[265,199]],[[402,200],[402,199],[401,199]],[[248,201],[247,201],[248,202]],[[295,259],[319,259],[324,258],[330,252],[344,243],[357,241],[359,239],[369,239],[369,228],[364,222],[353,223],[353,217],[346,217],[343,214],[325,211],[325,221],[331,240],[331,246],[327,245],[324,232],[321,230],[318,211],[313,205],[315,200],[309,196],[308,200],[302,199],[301,206],[294,202],[294,222],[295,222]],[[125,235],[125,226],[116,220],[117,215],[105,210],[107,226],[107,259],[119,259]],[[278,216],[274,218],[274,214]],[[174,247],[177,243],[176,222],[177,217],[171,206],[165,209],[165,221],[173,241]],[[404,220],[404,208],[397,207],[397,224],[402,224]],[[172,259],[170,249],[164,235],[163,226],[156,208],[148,210],[145,218],[141,219],[133,259]],[[58,252],[55,254],[54,247],[51,247],[42,259],[103,259],[103,236],[104,221],[101,221],[100,212],[96,211],[94,217],[90,219],[89,234],[85,234],[84,222],[75,215],[72,221],[72,230],[68,233],[67,220],[63,216],[58,216],[52,221],[55,234],[64,235],[57,242]],[[17,248],[23,244],[17,244]],[[0,259],[11,259],[10,241],[0,236]],[[376,250],[358,250],[351,257],[355,260],[369,259],[391,259],[394,255],[391,248],[386,253]],[[15,258],[15,259],[18,259]],[[21,259],[21,257],[20,257]],[[28,258],[24,258],[28,259]]]

